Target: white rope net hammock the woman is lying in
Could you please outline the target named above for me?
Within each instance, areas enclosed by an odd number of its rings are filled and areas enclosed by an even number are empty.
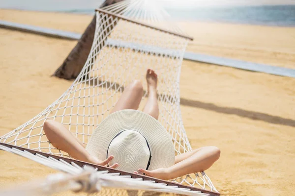
[[[159,122],[171,134],[176,154],[192,150],[182,123],[179,95],[181,63],[188,40],[191,38],[167,21],[168,18],[167,12],[151,0],[125,0],[107,6],[104,10],[96,10],[92,48],[77,79],[60,98],[40,114],[1,136],[0,142],[38,150],[52,156],[67,157],[65,152],[50,144],[44,134],[43,123],[46,120],[60,122],[87,144],[95,127],[108,116],[126,85],[134,79],[140,79],[143,85],[147,86],[145,74],[150,68],[155,70],[159,77]],[[116,45],[113,44],[114,41]],[[146,97],[147,91],[142,102],[145,102]],[[78,175],[84,171],[83,167],[77,167],[74,162],[64,163],[62,159],[59,161],[50,157],[44,158],[39,154],[1,145],[0,149],[66,173]],[[157,187],[158,183],[153,183],[150,187],[148,180],[138,183],[138,180],[133,182],[133,178],[124,178],[120,181],[122,177],[113,174],[96,175],[100,176],[99,179],[108,176],[109,183],[104,184],[106,187],[133,187],[132,189],[157,191],[163,189],[163,192],[176,193],[160,185],[160,188]],[[217,192],[205,172],[180,176],[171,182]],[[130,186],[128,183],[131,183]],[[200,192],[190,191],[189,194]]]

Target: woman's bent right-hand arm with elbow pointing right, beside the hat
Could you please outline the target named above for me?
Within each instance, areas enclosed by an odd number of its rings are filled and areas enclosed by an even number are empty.
[[[139,171],[164,180],[174,179],[189,173],[202,172],[210,168],[218,160],[220,149],[217,147],[201,147],[178,156],[176,157],[176,164],[169,168],[153,171],[139,169]]]

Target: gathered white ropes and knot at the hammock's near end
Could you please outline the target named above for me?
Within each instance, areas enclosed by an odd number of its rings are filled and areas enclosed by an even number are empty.
[[[49,175],[47,179],[43,181],[38,180],[38,182],[30,182],[21,187],[14,188],[13,190],[8,189],[0,191],[0,196],[44,196],[68,190],[87,193],[99,192],[101,196],[128,195],[126,193],[132,190],[138,191],[138,195],[142,195],[141,193],[144,191],[187,196],[207,196],[210,194],[210,192],[204,190],[191,190],[188,187],[179,187],[180,185],[167,181],[120,172],[65,157],[50,155],[22,147],[14,147],[13,145],[2,144],[0,145],[0,149],[71,174],[58,173]],[[218,195],[217,193],[213,193],[213,196]]]

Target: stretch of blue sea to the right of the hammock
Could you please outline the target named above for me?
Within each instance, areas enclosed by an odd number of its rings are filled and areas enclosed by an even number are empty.
[[[168,11],[180,20],[295,26],[295,5],[203,7]]]

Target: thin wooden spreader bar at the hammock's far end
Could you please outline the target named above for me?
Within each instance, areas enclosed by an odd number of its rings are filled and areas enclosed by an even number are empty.
[[[183,35],[183,34],[180,34],[180,33],[175,33],[173,31],[168,31],[168,30],[165,30],[163,28],[159,28],[159,27],[156,27],[156,26],[153,26],[153,25],[148,25],[148,24],[145,24],[145,23],[140,23],[138,21],[135,21],[135,20],[132,20],[132,19],[129,19],[127,17],[124,17],[124,16],[120,16],[118,14],[114,14],[112,12],[108,12],[106,10],[103,10],[103,9],[95,9],[95,11],[98,11],[98,12],[101,12],[101,13],[104,13],[104,14],[107,14],[107,15],[110,15],[110,16],[114,16],[116,18],[119,18],[121,20],[124,20],[124,21],[128,21],[128,22],[131,22],[131,23],[134,23],[134,24],[138,24],[138,25],[142,25],[142,26],[146,26],[148,28],[152,28],[152,29],[155,29],[155,30],[159,30],[159,31],[162,31],[162,32],[165,32],[165,33],[169,33],[169,34],[172,34],[172,35],[175,35],[175,36],[178,36],[178,37],[182,37],[182,38],[185,38],[185,39],[189,39],[191,41],[194,40],[193,37],[189,37],[189,36],[186,36],[186,35]]]

